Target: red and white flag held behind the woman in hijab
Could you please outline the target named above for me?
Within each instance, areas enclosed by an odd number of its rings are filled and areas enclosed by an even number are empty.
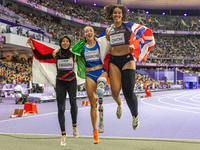
[[[44,44],[41,44],[33,40],[32,38],[30,39],[33,42],[34,47],[42,55],[49,54],[55,50],[53,48],[50,48]],[[81,79],[77,76],[76,63],[74,63],[74,72],[76,73],[77,84],[80,85],[85,83],[84,79]],[[55,87],[56,75],[57,75],[55,59],[40,60],[35,56],[33,51],[32,74],[33,74],[33,83],[42,83]]]

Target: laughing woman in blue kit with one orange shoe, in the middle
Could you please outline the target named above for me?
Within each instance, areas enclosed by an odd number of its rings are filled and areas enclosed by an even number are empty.
[[[79,61],[76,60],[77,65],[79,68],[83,67],[85,69],[82,69],[83,77],[86,79],[86,90],[87,95],[91,103],[91,121],[93,126],[93,140],[94,144],[99,143],[98,138],[98,130],[97,130],[97,97],[102,98],[104,93],[104,87],[107,83],[107,72],[104,68],[104,65],[102,63],[101,57],[100,57],[100,45],[98,39],[95,39],[94,37],[94,29],[91,26],[86,26],[84,28],[84,37],[85,40],[82,42],[83,47],[81,47],[81,50],[77,54],[77,50],[75,47],[77,45],[80,45],[80,42],[75,44],[72,47],[72,52],[74,54],[79,55],[83,58],[84,66],[81,66],[79,64]],[[78,69],[78,75],[80,75],[80,69]],[[86,77],[84,77],[84,75]],[[81,77],[81,76],[80,76]]]

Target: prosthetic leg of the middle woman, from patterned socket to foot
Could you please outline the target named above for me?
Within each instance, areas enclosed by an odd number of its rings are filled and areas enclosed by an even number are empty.
[[[104,132],[104,125],[103,125],[103,94],[105,84],[107,83],[107,79],[105,77],[100,77],[97,80],[97,95],[99,98],[99,133]]]

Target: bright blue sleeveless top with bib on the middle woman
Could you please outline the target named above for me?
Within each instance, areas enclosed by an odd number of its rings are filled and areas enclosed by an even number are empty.
[[[85,61],[85,68],[95,67],[102,64],[100,59],[100,47],[97,41],[94,47],[83,47],[83,57]]]

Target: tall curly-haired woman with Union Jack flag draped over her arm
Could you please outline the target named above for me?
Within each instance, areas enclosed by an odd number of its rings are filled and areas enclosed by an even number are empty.
[[[128,15],[127,8],[123,5],[107,5],[104,14],[107,19],[114,21],[114,24],[106,29],[106,38],[111,44],[109,77],[112,96],[118,104],[116,115],[118,119],[122,117],[122,101],[119,95],[122,85],[132,114],[132,126],[136,130],[139,127],[139,120],[138,102],[134,93],[136,70],[134,60],[140,62],[146,60],[148,52],[155,45],[153,33],[145,26],[123,22]]]

